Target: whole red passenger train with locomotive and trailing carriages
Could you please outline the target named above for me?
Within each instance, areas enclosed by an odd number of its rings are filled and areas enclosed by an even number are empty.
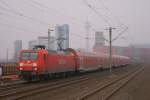
[[[23,80],[47,79],[55,75],[82,73],[109,68],[108,54],[92,53],[72,48],[63,51],[47,50],[45,46],[35,46],[33,50],[21,50],[17,66]],[[112,66],[130,63],[130,58],[112,55]]]

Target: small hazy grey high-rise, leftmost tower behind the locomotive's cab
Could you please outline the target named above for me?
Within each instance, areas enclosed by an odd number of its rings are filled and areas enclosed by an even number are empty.
[[[14,42],[14,60],[19,59],[20,50],[22,50],[22,40],[16,40]]]

